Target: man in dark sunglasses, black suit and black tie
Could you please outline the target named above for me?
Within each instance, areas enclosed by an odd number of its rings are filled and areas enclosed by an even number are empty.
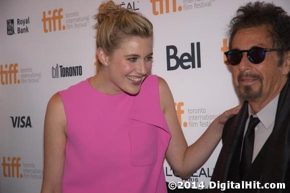
[[[236,13],[224,54],[243,105],[224,125],[211,181],[248,184],[226,192],[290,192],[290,16],[265,2]],[[271,182],[285,189],[257,187]]]

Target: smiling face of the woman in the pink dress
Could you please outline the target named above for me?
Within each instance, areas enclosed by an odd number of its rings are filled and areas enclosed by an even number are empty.
[[[107,62],[111,94],[137,94],[152,66],[152,38],[132,36],[115,49]]]

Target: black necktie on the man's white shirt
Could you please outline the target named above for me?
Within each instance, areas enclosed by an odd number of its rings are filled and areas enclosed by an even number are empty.
[[[240,164],[239,164],[240,178],[242,178],[244,176],[247,169],[251,165],[254,136],[255,136],[255,129],[254,128],[259,123],[259,121],[260,120],[257,117],[252,117],[252,115],[250,115],[247,130],[246,130],[245,135],[243,137],[243,144],[242,144]]]

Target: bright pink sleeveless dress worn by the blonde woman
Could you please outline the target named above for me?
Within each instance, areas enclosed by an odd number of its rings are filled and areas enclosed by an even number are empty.
[[[164,193],[170,132],[160,108],[158,77],[140,92],[104,94],[88,79],[58,92],[67,141],[62,193]]]

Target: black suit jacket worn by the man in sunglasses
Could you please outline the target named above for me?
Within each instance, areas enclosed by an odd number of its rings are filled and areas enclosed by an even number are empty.
[[[261,184],[283,182],[286,189],[243,189],[240,192],[290,192],[290,78],[280,92],[273,131],[257,154],[244,177],[239,177],[239,159],[248,103],[223,128],[222,148],[217,158],[212,181],[259,181]],[[208,192],[222,192],[218,189]],[[226,192],[239,192],[229,189]]]

